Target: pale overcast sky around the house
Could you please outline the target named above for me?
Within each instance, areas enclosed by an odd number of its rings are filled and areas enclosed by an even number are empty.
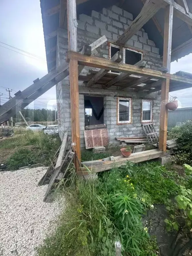
[[[27,53],[0,43],[0,93],[3,93],[3,104],[8,97],[5,88],[11,88],[11,95],[14,96],[15,92],[22,91],[37,77],[41,78],[47,73],[40,1],[0,0],[0,24],[0,42],[33,54],[27,57],[22,55]],[[180,70],[192,73],[192,54],[180,59],[178,63],[172,63],[171,73]],[[178,97],[180,107],[192,107],[192,88],[172,92],[171,95]],[[35,103],[31,103],[30,107],[34,104],[35,107],[51,108],[55,99],[54,86]]]

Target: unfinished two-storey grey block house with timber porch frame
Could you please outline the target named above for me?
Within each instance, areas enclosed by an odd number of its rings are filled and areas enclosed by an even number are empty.
[[[168,94],[192,83],[170,74],[171,61],[192,52],[191,2],[41,0],[41,8],[48,70],[69,65],[56,85],[60,136],[71,132],[80,158],[87,126],[105,124],[113,144],[153,123],[165,152]]]

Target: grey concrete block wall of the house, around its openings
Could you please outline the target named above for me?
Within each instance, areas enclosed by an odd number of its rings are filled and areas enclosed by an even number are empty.
[[[109,9],[102,9],[102,12],[92,11],[92,15],[80,14],[78,17],[78,49],[84,44],[91,44],[101,36],[105,35],[108,42],[113,43],[128,28],[133,20],[133,15],[117,6]],[[153,41],[148,38],[147,33],[142,28],[130,40],[126,42],[126,47],[135,49],[143,53],[143,60],[147,62],[147,68],[158,70],[162,66],[159,49],[155,47]],[[66,62],[68,51],[67,30],[58,30],[57,40],[57,66]],[[108,43],[104,43],[97,48],[98,57],[109,58]],[[90,67],[85,67],[81,74],[86,75]],[[86,88],[82,82],[79,82],[79,114],[80,114],[80,135],[81,147],[85,147],[84,141],[84,95],[97,95],[104,97],[104,123],[107,125],[110,143],[117,143],[115,137],[144,136],[141,126],[141,106],[142,99],[153,100],[153,123],[159,131],[159,113],[160,113],[160,95],[157,93],[147,94],[144,92],[136,93],[133,90],[126,89],[118,91],[118,87],[112,86],[107,90],[102,90],[101,85],[95,84],[91,89]],[[99,90],[96,90],[98,89]],[[96,93],[95,93],[96,92]],[[56,85],[59,134],[62,138],[65,130],[71,133],[70,117],[70,87],[69,77],[66,77]],[[122,94],[122,95],[121,95]],[[132,123],[117,125],[117,95],[132,99]]]

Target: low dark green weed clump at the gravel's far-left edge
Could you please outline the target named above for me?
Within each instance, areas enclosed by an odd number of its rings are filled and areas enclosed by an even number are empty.
[[[36,155],[28,149],[20,149],[6,161],[10,170],[16,170],[29,164],[37,163]]]

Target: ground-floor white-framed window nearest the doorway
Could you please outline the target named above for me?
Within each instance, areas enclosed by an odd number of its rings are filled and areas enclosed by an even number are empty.
[[[131,123],[131,99],[117,98],[117,124]]]

